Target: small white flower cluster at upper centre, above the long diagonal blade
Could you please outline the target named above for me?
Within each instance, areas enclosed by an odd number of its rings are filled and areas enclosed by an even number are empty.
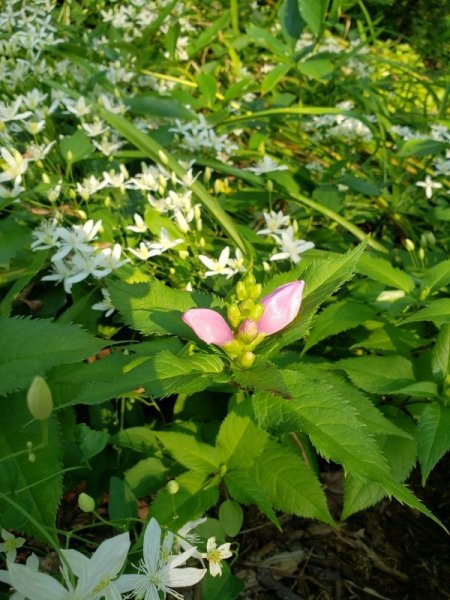
[[[237,144],[232,142],[227,134],[217,135],[213,126],[202,114],[197,116],[197,121],[182,123],[176,119],[175,127],[172,127],[170,131],[180,137],[180,144],[183,148],[191,152],[214,150],[217,158],[224,162],[238,149]]]

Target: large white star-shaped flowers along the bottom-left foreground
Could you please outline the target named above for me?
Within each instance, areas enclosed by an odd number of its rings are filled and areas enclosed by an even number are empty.
[[[152,518],[144,533],[143,556],[133,574],[120,574],[123,571],[130,549],[128,533],[116,535],[102,542],[90,558],[72,549],[61,549],[63,559],[61,576],[63,583],[39,571],[39,560],[32,554],[26,564],[17,564],[16,550],[23,538],[15,538],[2,530],[4,544],[0,551],[6,554],[7,570],[0,570],[0,581],[16,591],[15,600],[136,600],[165,599],[167,595],[183,600],[184,596],[174,588],[190,587],[197,584],[206,574],[204,560],[208,561],[213,577],[221,575],[221,562],[232,556],[230,544],[217,547],[215,538],[209,538],[206,552],[200,553],[189,532],[206,519],[187,523],[177,534],[167,532],[162,536],[161,528]],[[178,553],[180,548],[183,552]],[[190,558],[202,563],[202,568],[184,566]]]

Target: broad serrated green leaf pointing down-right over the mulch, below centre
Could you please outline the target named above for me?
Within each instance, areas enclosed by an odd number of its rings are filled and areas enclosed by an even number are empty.
[[[314,471],[289,448],[270,442],[250,475],[265,490],[275,508],[334,524]]]

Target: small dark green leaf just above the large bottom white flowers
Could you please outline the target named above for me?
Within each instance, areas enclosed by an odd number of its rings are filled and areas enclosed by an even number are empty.
[[[219,498],[216,487],[206,488],[204,473],[189,471],[179,475],[176,481],[180,486],[176,494],[162,489],[150,506],[151,516],[174,531],[188,521],[203,517]]]

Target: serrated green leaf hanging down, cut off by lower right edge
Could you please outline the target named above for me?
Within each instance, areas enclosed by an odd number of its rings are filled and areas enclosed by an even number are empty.
[[[428,404],[417,426],[417,455],[425,485],[428,475],[450,450],[450,406],[439,402]]]

